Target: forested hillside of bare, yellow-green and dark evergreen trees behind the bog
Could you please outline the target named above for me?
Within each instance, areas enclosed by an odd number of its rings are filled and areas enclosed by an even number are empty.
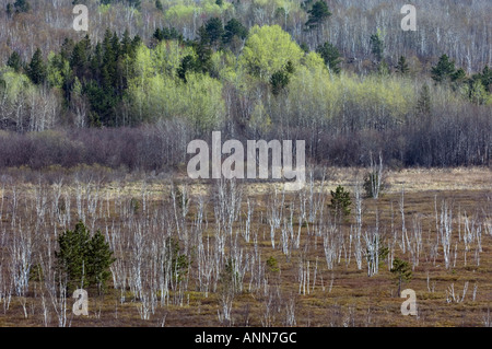
[[[77,3],[89,31],[72,27]],[[189,140],[489,165],[490,1],[0,0],[0,166],[163,170]]]

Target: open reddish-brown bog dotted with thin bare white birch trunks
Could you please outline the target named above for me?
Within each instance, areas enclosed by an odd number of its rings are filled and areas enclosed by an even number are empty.
[[[0,325],[490,326],[490,168],[387,171],[377,199],[363,168],[311,174],[298,191],[4,175]],[[80,221],[114,257],[105,287],[84,284],[86,315],[60,272],[60,236]],[[402,315],[406,289],[415,315]]]

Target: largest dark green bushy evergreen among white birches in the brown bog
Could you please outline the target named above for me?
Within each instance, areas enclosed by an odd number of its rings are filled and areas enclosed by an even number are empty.
[[[91,286],[104,291],[110,277],[109,267],[116,260],[101,231],[91,237],[82,222],[58,236],[55,257],[58,276],[67,281],[69,291]]]

